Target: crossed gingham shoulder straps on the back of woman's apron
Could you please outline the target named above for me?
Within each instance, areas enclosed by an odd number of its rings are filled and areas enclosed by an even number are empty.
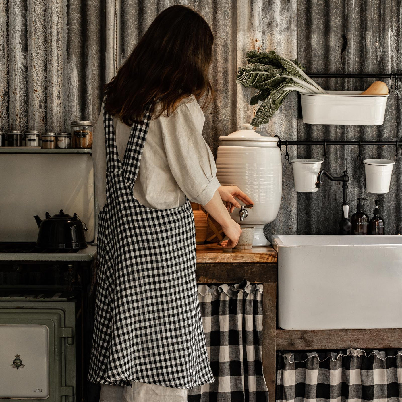
[[[105,98],[103,99],[103,122],[106,129],[105,143],[107,152],[107,171],[123,170],[123,175],[128,187],[132,191],[135,180],[138,176],[139,162],[141,160],[142,151],[147,137],[148,127],[151,120],[150,107],[148,103],[145,107],[144,117],[141,122],[134,122],[131,126],[130,137],[127,148],[124,153],[123,162],[119,158],[116,145],[116,135],[113,129],[113,118],[105,109]],[[108,119],[108,115],[110,118]]]

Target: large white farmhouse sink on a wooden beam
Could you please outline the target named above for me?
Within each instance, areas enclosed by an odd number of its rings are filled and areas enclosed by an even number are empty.
[[[402,236],[273,236],[283,329],[402,328]]]

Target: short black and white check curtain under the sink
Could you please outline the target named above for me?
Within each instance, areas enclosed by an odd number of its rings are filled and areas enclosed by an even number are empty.
[[[402,350],[277,354],[277,402],[400,402]]]

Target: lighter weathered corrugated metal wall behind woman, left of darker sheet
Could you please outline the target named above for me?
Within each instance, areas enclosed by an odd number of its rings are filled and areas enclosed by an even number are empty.
[[[96,121],[103,85],[116,73],[155,16],[172,4],[199,11],[215,36],[211,80],[216,97],[203,135],[216,154],[219,136],[252,118],[250,90],[235,83],[249,49],[296,55],[296,0],[10,0],[0,4],[0,128],[65,131]],[[295,136],[296,96],[277,113],[271,135]],[[296,198],[284,168],[279,217],[267,234],[295,231]]]

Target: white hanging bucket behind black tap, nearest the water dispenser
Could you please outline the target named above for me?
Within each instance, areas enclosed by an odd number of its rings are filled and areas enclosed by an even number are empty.
[[[300,193],[314,193],[317,191],[316,181],[321,169],[320,159],[293,159],[293,179],[295,190]]]

